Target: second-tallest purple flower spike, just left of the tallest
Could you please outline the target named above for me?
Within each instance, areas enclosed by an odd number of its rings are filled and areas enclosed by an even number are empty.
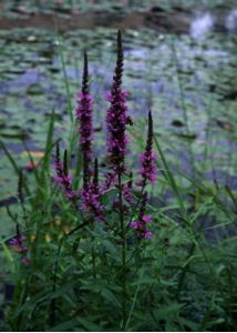
[[[80,144],[83,155],[83,188],[86,189],[90,182],[90,163],[92,159],[92,140],[93,140],[93,99],[89,89],[89,68],[87,54],[84,52],[84,69],[82,78],[82,90],[79,93],[76,118],[80,123]]]

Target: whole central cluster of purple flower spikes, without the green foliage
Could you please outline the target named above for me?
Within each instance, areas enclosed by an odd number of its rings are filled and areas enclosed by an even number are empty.
[[[104,182],[99,184],[99,164],[95,159],[94,172],[92,171],[92,141],[93,141],[93,99],[89,89],[89,69],[87,56],[84,53],[84,69],[82,78],[82,89],[79,93],[78,107],[75,110],[79,122],[80,145],[83,159],[83,185],[79,191],[73,191],[72,179],[68,172],[66,157],[64,155],[63,163],[60,160],[58,148],[55,159],[56,182],[62,189],[65,196],[73,202],[74,208],[81,209],[86,221],[103,221],[105,222],[102,196],[107,193],[112,186],[117,189],[115,199],[112,200],[112,208],[116,213],[121,212],[130,214],[135,200],[133,191],[133,176],[123,183],[122,176],[127,178],[127,168],[125,165],[125,155],[127,153],[128,137],[126,128],[132,124],[127,117],[126,101],[128,93],[122,89],[123,74],[123,47],[121,31],[117,33],[117,59],[113,84],[110,92],[106,94],[106,100],[110,102],[110,108],[106,112],[106,149],[107,149],[107,171],[104,174]],[[128,223],[128,225],[137,232],[137,239],[150,239],[152,232],[147,229],[147,223],[152,221],[152,216],[146,214],[147,194],[144,193],[146,184],[154,184],[156,180],[156,155],[153,151],[153,120],[152,113],[148,113],[148,131],[144,152],[141,155],[141,169],[138,170],[140,181],[135,184],[142,186],[140,198],[135,210],[138,210],[138,218]],[[106,221],[109,222],[109,221]]]

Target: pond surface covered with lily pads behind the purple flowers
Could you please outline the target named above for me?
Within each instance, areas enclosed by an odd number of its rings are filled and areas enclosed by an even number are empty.
[[[161,33],[144,27],[124,33],[124,88],[130,92],[134,134],[145,137],[146,114],[152,109],[155,132],[172,168],[192,175],[193,161],[204,180],[231,189],[237,189],[235,18],[236,10],[226,16],[229,31],[225,33],[214,31],[216,18],[208,12],[195,16],[190,34]],[[24,145],[35,159],[41,155],[53,109],[54,139],[68,138],[70,117],[61,53],[74,107],[82,52],[89,51],[95,150],[102,150],[115,39],[116,29],[110,28],[66,31],[60,48],[58,36],[48,30],[0,31],[0,134],[21,168],[29,163]],[[136,143],[133,151],[141,149]],[[16,178],[2,152],[0,172],[0,198],[14,195]]]

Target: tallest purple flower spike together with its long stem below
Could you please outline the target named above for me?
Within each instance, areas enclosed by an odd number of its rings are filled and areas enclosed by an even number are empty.
[[[122,33],[117,32],[117,59],[115,65],[115,74],[113,77],[113,85],[111,92],[107,93],[107,101],[111,103],[106,113],[106,128],[107,128],[107,152],[110,158],[110,168],[112,172],[109,172],[106,176],[106,184],[110,188],[111,184],[115,184],[117,188],[118,198],[115,199],[113,208],[118,209],[120,215],[120,234],[122,244],[122,258],[121,258],[121,272],[123,274],[122,290],[122,322],[123,329],[125,327],[127,319],[127,304],[126,304],[126,230],[124,223],[124,185],[122,182],[122,175],[125,173],[125,154],[127,152],[128,137],[126,134],[126,125],[131,123],[127,117],[127,91],[122,89],[122,75],[123,75],[123,46]]]

